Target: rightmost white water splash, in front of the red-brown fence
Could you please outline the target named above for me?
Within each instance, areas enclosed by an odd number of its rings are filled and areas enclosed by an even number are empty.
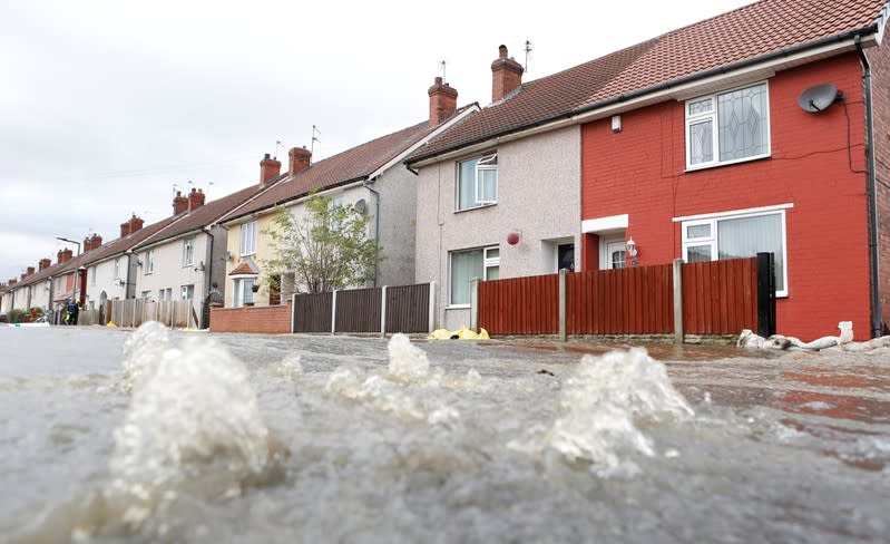
[[[686,418],[694,412],[671,385],[667,371],[645,349],[585,356],[566,380],[563,415],[545,430],[512,440],[508,447],[532,455],[557,451],[569,462],[589,464],[599,476],[634,476],[634,455],[654,456],[638,421]]]

